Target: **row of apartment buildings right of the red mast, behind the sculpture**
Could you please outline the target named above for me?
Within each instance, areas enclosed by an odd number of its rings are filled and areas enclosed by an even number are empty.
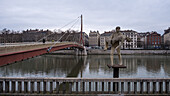
[[[89,33],[89,46],[104,47],[105,41],[111,38],[115,30],[99,34],[98,31],[90,31]],[[131,42],[124,41],[122,49],[160,49],[162,47],[169,47],[170,45],[170,27],[164,30],[164,34],[153,32],[139,33],[134,30],[122,30],[121,33],[126,37],[131,38]]]

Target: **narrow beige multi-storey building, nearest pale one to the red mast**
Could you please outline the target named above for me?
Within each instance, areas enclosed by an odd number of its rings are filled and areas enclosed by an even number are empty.
[[[89,33],[89,46],[99,46],[100,34],[99,31],[90,31]]]

